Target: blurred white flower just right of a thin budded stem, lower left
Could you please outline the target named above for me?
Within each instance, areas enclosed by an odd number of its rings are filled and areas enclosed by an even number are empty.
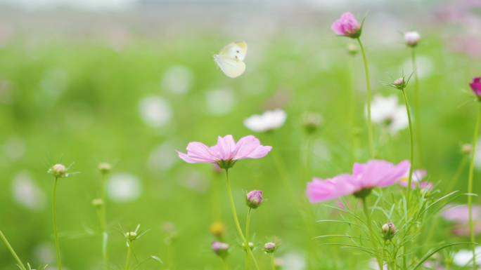
[[[107,194],[117,203],[135,201],[142,194],[141,181],[130,173],[115,173],[107,180]]]

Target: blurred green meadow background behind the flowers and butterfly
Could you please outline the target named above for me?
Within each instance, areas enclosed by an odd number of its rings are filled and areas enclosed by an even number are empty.
[[[470,142],[474,129],[477,106],[458,107],[470,99],[461,89],[469,89],[470,80],[480,76],[481,41],[473,34],[481,29],[477,6],[466,8],[459,2],[412,2],[410,9],[390,1],[380,5],[365,1],[352,10],[347,2],[312,8],[288,1],[281,6],[146,2],[131,12],[6,8],[0,19],[0,229],[23,262],[55,266],[53,177],[46,171],[49,155],[57,163],[64,154],[66,165],[75,161],[70,171],[81,173],[60,180],[58,186],[63,264],[71,270],[103,269],[99,236],[79,234],[84,228],[98,231],[91,205],[100,196],[101,174],[96,168],[109,162],[113,171],[108,175],[108,248],[113,264],[124,265],[127,253],[115,228],[141,224],[151,231],[134,242],[136,255],[139,259],[156,255],[165,262],[149,262],[145,269],[221,269],[220,259],[210,250],[213,187],[219,189],[225,240],[236,246],[224,175],[209,164],[185,163],[174,150],[185,152],[192,141],[214,145],[219,135],[232,134],[238,140],[253,134],[262,144],[274,146],[296,194],[304,196],[307,178],[302,177],[302,168],[309,142],[312,176],[351,171],[352,85],[355,123],[361,128],[356,160],[366,161],[361,55],[349,55],[345,47],[350,40],[335,37],[330,25],[342,12],[352,11],[360,19],[368,9],[362,39],[373,93],[397,95],[403,104],[398,91],[377,81],[391,80],[385,72],[399,77],[403,69],[405,74],[412,71],[410,50],[397,31],[415,29],[425,37],[417,48],[423,168],[431,181],[442,180],[443,194],[461,161],[460,144]],[[397,8],[399,13],[394,12]],[[209,51],[217,53],[236,40],[248,43],[247,70],[230,79],[217,69]],[[412,90],[407,89],[411,106]],[[259,134],[243,126],[248,116],[276,108],[288,114],[279,130]],[[321,130],[309,138],[300,124],[300,114],[307,111],[324,118]],[[379,158],[395,163],[409,158],[407,129],[397,135],[381,135],[379,126],[374,130]],[[262,189],[269,201],[253,212],[253,242],[262,248],[268,240],[281,238],[276,256],[284,258],[283,269],[305,269],[303,224],[272,154],[239,161],[231,170],[238,215],[244,224],[243,191]],[[476,172],[475,192],[481,187],[478,177]],[[456,189],[466,191],[466,183],[467,170]],[[397,189],[401,187],[390,190]],[[328,208],[313,208],[318,220],[337,218]],[[165,241],[166,222],[177,231],[172,243]],[[347,229],[328,224],[316,228],[319,235],[343,234]],[[442,221],[432,243],[447,236],[450,227]],[[338,247],[321,246],[319,252],[322,269],[363,269],[369,261],[355,252],[354,259],[342,259],[352,251]],[[260,250],[255,255],[259,266],[267,269],[269,257]],[[235,248],[229,257],[231,268],[243,269],[243,261],[243,252]],[[15,267],[0,245],[0,269]]]

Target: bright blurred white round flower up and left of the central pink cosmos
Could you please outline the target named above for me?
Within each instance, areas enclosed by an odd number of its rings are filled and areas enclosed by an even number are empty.
[[[148,95],[139,102],[141,119],[154,128],[165,126],[172,119],[172,109],[162,97]]]

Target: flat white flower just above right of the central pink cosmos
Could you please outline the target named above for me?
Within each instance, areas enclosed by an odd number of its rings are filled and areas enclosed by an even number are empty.
[[[281,128],[286,122],[287,114],[282,109],[266,111],[264,114],[254,114],[248,119],[244,119],[244,126],[252,131],[262,132]]]

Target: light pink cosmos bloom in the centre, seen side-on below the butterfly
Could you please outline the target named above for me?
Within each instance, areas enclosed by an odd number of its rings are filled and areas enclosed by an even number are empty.
[[[237,143],[232,135],[220,137],[217,145],[207,147],[201,142],[189,142],[187,144],[187,154],[179,153],[179,158],[188,163],[216,163],[220,168],[232,168],[234,163],[243,158],[262,158],[271,151],[272,147],[264,147],[259,140],[248,135]]]

